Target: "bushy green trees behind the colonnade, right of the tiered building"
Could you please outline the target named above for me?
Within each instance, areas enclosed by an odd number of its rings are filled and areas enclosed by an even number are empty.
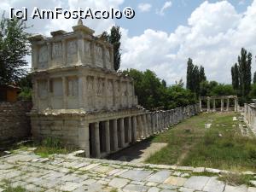
[[[123,73],[134,79],[138,102],[144,108],[171,109],[195,103],[195,94],[183,88],[182,79],[178,84],[164,86],[165,84],[150,70],[140,72],[130,69]]]

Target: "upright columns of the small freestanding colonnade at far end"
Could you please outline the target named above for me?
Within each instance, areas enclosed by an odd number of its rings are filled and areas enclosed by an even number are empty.
[[[232,98],[234,99],[235,102],[235,112],[238,111],[238,99],[237,98]],[[211,111],[211,101],[212,101],[212,111],[216,111],[216,98],[211,98],[207,97],[207,112]],[[224,111],[224,98],[220,99],[221,104],[220,104],[220,111]],[[230,98],[226,98],[226,111],[230,111]],[[202,111],[201,107],[201,99],[199,99],[199,105],[200,105],[200,110]]]

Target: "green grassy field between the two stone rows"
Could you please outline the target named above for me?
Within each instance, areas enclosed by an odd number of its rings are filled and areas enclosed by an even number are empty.
[[[154,137],[168,143],[147,162],[179,166],[206,166],[232,171],[256,171],[256,138],[243,137],[238,113],[201,113]],[[205,124],[212,124],[205,128]]]

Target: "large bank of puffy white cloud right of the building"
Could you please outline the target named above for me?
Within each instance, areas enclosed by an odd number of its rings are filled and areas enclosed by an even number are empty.
[[[194,10],[186,26],[175,32],[148,29],[129,38],[123,32],[123,68],[154,70],[169,84],[185,79],[189,57],[203,65],[210,80],[230,83],[230,67],[241,47],[256,54],[256,0],[238,14],[227,1],[204,2]],[[253,67],[253,70],[254,67]]]

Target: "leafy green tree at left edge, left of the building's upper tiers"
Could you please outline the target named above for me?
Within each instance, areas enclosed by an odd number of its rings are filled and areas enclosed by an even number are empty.
[[[23,20],[0,20],[0,84],[16,83],[26,74],[29,34]]]

